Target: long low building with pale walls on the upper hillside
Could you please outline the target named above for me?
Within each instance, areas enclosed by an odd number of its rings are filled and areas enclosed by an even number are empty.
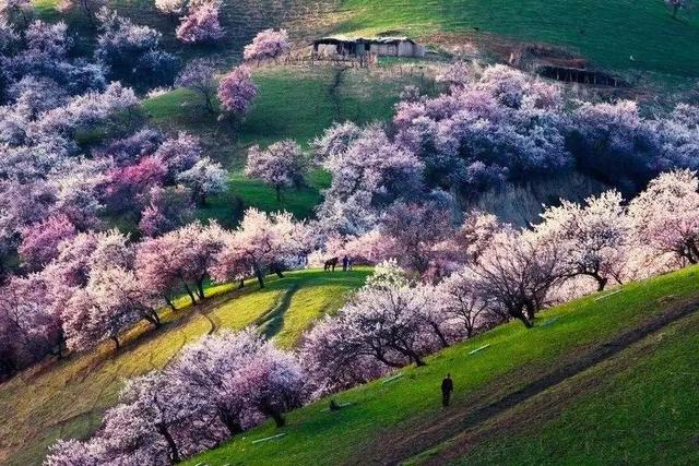
[[[346,37],[329,36],[313,40],[313,51],[321,55],[379,57],[424,57],[425,47],[407,37]]]

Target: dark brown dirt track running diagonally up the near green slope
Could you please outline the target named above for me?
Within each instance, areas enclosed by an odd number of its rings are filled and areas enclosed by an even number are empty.
[[[429,419],[412,420],[410,429],[401,426],[379,437],[369,445],[360,462],[351,464],[384,464],[394,465],[429,450],[449,439],[466,431],[477,429],[486,421],[506,413],[518,404],[530,399],[542,392],[596,366],[619,351],[628,348],[644,337],[662,330],[671,323],[683,319],[699,308],[699,299],[678,302],[668,307],[662,314],[655,315],[638,327],[625,332],[616,338],[596,345],[580,355],[574,362],[554,369],[526,385],[507,393],[499,399],[485,406],[474,408],[473,405],[462,403],[453,405],[449,410],[430,417]],[[435,458],[431,464],[443,464]]]

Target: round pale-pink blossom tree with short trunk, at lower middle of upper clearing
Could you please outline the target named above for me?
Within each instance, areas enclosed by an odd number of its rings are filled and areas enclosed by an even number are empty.
[[[245,174],[259,178],[274,187],[276,200],[282,200],[282,188],[299,187],[304,183],[306,160],[301,147],[292,140],[272,144],[266,150],[254,145],[248,151]]]

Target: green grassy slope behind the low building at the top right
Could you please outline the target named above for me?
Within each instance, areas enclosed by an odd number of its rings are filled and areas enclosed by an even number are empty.
[[[576,50],[596,65],[699,76],[699,15],[671,17],[662,0],[342,0],[336,31],[465,35]],[[633,60],[630,57],[633,57]]]

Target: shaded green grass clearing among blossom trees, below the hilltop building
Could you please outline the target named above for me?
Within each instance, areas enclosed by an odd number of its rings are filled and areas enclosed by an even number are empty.
[[[282,202],[277,202],[273,189],[242,175],[245,151],[250,145],[293,139],[308,147],[334,121],[362,124],[388,120],[408,84],[422,85],[426,92],[433,86],[422,71],[399,73],[393,68],[261,68],[254,71],[253,80],[259,87],[258,97],[240,128],[217,121],[217,115],[205,110],[201,97],[187,89],[143,103],[151,124],[200,135],[206,152],[232,170],[230,191],[201,212],[202,217],[217,218],[224,225],[230,224],[236,198],[264,211],[287,210],[297,217],[308,217],[320,202],[320,190],[330,183],[328,176],[313,172],[307,187],[285,191]]]

